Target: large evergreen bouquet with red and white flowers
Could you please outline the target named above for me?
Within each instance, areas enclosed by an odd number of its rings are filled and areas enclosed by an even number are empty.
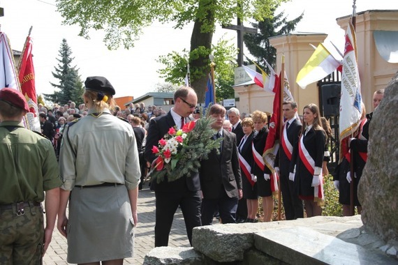
[[[179,130],[170,128],[158,146],[152,147],[157,158],[152,163],[150,176],[160,183],[166,175],[168,181],[175,181],[196,174],[200,160],[208,159],[209,153],[220,147],[222,138],[213,139],[214,130],[210,126],[213,121],[208,117],[190,121]]]

